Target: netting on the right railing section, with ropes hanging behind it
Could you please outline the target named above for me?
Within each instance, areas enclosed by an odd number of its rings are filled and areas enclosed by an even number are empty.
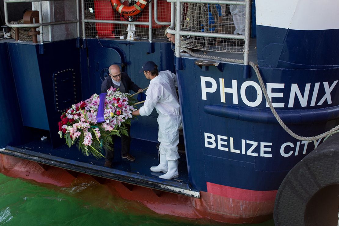
[[[245,6],[182,3],[181,30],[245,35]],[[241,53],[244,40],[202,36],[182,36],[182,47],[215,52]]]

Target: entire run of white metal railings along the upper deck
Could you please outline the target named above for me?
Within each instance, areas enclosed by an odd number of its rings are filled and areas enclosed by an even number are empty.
[[[77,19],[68,20],[68,21],[57,21],[57,22],[42,22],[42,1],[47,0],[4,0],[4,15],[5,23],[9,27],[40,27],[40,43],[43,44],[43,26],[48,25],[57,25],[57,24],[67,24],[67,23],[77,23],[77,36],[80,37],[80,15],[79,15],[79,0],[76,0],[76,11]],[[62,1],[62,0],[52,0],[52,1]],[[33,24],[10,24],[8,22],[8,12],[7,12],[7,3],[13,2],[39,2],[39,22]],[[171,22],[161,22],[158,20],[158,0],[154,0],[154,20],[156,24],[160,25],[170,25],[172,29],[167,29],[168,33],[176,35],[175,49],[176,56],[180,57],[180,42],[181,36],[200,36],[200,37],[214,37],[214,38],[228,38],[228,39],[237,39],[244,40],[244,64],[248,65],[248,50],[249,50],[249,40],[250,40],[250,11],[251,5],[250,0],[243,1],[231,1],[231,0],[167,0],[171,2]],[[196,31],[187,31],[181,29],[181,3],[207,3],[207,4],[232,4],[232,5],[244,5],[245,6],[245,35],[234,35],[234,34],[224,34],[224,33],[213,33],[204,30],[204,32]],[[146,25],[148,26],[148,37],[149,42],[153,41],[152,35],[152,1],[148,3],[148,21],[121,21],[121,20],[98,20],[98,19],[85,19],[85,5],[84,0],[81,0],[81,23],[82,23],[82,38],[86,38],[85,32],[85,23],[107,23],[107,24],[135,24],[135,25]],[[175,29],[173,29],[175,27]]]

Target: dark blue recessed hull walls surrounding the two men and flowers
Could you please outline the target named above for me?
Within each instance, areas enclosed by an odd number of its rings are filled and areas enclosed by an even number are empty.
[[[55,148],[64,144],[58,135],[57,123],[60,121],[61,112],[94,93],[100,93],[102,69],[111,64],[122,64],[122,70],[142,88],[149,84],[149,80],[139,73],[144,62],[152,60],[163,70],[175,71],[170,43],[154,43],[154,53],[148,53],[148,42],[87,39],[86,44],[86,47],[78,48],[75,39],[45,43],[44,53],[39,54],[39,45],[1,43],[4,59],[1,62],[1,70],[8,76],[7,80],[12,79],[2,83],[8,84],[3,89],[6,93],[11,93],[6,91],[7,89],[16,93],[11,96],[14,99],[11,104],[15,105],[18,101],[17,107],[20,106],[15,110],[14,106],[8,105],[8,112],[21,113],[20,117],[16,117],[21,126],[49,131]],[[62,107],[59,107],[60,105]],[[142,105],[138,107],[140,106]],[[156,142],[156,118],[157,113],[154,111],[149,117],[134,120],[131,136]],[[3,143],[9,144],[6,141]]]

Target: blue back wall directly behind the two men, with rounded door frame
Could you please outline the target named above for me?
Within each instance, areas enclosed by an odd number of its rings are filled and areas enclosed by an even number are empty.
[[[174,57],[171,44],[168,42],[155,42],[155,52],[149,53],[148,42],[129,42],[124,40],[104,40],[86,39],[86,51],[81,51],[88,56],[88,76],[82,73],[82,83],[87,83],[88,89],[83,89],[84,99],[89,98],[94,93],[100,93],[100,86],[104,79],[104,68],[112,64],[122,65],[134,83],[141,88],[149,85],[149,80],[143,73],[139,73],[143,63],[154,61],[161,70],[171,70],[175,72]],[[87,55],[88,54],[88,55]],[[82,68],[87,65],[87,61],[82,61]],[[131,91],[133,93],[133,91]],[[142,104],[137,107],[141,107]],[[156,142],[158,138],[158,117],[154,110],[150,116],[138,117],[132,121],[131,137]]]

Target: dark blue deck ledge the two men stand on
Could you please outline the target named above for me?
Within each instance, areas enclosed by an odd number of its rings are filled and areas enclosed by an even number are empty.
[[[163,173],[149,170],[151,166],[159,164],[156,143],[132,139],[130,153],[136,161],[130,162],[121,158],[120,140],[115,140],[112,168],[103,166],[104,158],[95,159],[92,156],[83,156],[76,145],[71,148],[63,145],[53,149],[48,139],[41,141],[39,138],[17,147],[6,146],[5,149],[0,149],[0,153],[128,184],[200,198],[200,192],[191,189],[188,184],[184,151],[179,151],[179,178],[164,180],[159,178]]]

